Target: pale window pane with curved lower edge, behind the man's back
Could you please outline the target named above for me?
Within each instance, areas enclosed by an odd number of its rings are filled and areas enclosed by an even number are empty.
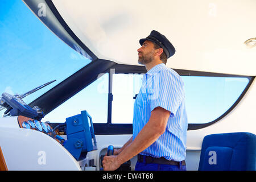
[[[246,77],[181,76],[188,123],[208,123],[224,114],[249,83]]]

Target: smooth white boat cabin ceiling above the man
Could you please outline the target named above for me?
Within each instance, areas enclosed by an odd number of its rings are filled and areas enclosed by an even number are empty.
[[[167,66],[256,75],[256,0],[52,0],[98,58],[138,65],[139,39],[152,30],[176,48]]]

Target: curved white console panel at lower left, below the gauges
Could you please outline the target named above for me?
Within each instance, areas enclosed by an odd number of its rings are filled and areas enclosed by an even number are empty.
[[[60,143],[39,131],[0,127],[0,146],[11,171],[81,170]]]

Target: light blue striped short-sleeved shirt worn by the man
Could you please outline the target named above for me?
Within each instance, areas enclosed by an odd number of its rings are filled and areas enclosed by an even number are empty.
[[[175,161],[185,159],[188,121],[184,100],[183,80],[165,64],[155,65],[143,76],[141,90],[134,102],[133,140],[155,107],[163,107],[171,114],[164,133],[141,155]]]

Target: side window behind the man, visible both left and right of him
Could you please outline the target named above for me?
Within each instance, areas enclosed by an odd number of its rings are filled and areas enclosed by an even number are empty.
[[[247,77],[181,77],[188,123],[214,121],[229,110],[249,83]],[[141,78],[138,74],[113,75],[112,123],[133,123],[133,97],[139,93]]]

